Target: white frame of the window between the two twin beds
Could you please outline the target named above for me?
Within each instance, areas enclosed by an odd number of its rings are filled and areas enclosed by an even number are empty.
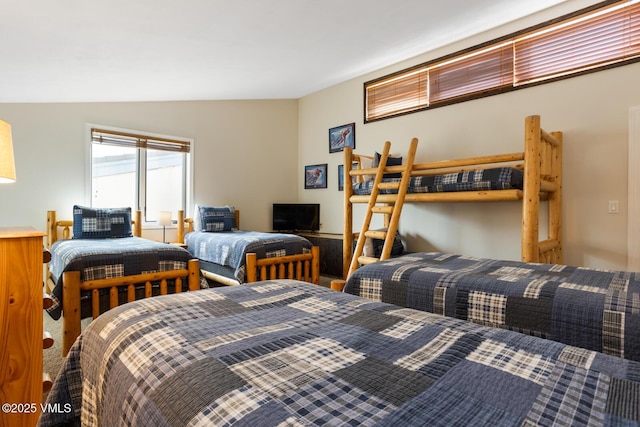
[[[181,141],[189,146],[188,152],[184,153],[186,155],[186,159],[183,162],[183,191],[182,191],[182,200],[181,200],[181,208],[185,215],[190,215],[190,206],[193,200],[193,191],[194,191],[194,162],[195,162],[195,143],[192,138],[180,137],[180,136],[171,136],[164,135],[158,133],[152,133],[147,131],[139,131],[132,130],[108,125],[102,125],[97,123],[87,123],[85,126],[85,135],[87,141],[87,150],[86,150],[86,191],[85,198],[87,200],[88,206],[93,206],[93,197],[92,197],[92,148],[93,148],[93,130],[99,129],[108,132],[113,132],[121,135],[130,135],[130,136],[140,136],[146,137],[149,139],[159,139],[159,140],[174,140]],[[137,206],[131,206],[132,210],[141,210],[142,211],[142,226],[154,226],[158,224],[158,220],[149,221],[147,220],[147,212],[146,212],[146,192],[144,188],[146,188],[146,156],[141,156],[142,148],[136,148],[136,191],[135,198]],[[142,191],[141,191],[142,190]]]

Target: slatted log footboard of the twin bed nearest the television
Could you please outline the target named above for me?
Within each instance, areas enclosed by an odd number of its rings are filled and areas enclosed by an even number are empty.
[[[320,248],[313,246],[311,252],[283,257],[257,259],[255,253],[247,254],[247,282],[273,279],[297,279],[303,282],[320,283]]]

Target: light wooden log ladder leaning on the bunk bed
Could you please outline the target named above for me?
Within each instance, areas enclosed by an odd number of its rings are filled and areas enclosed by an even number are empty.
[[[411,180],[411,171],[413,169],[413,162],[416,156],[417,147],[418,140],[413,138],[411,140],[409,152],[407,153],[406,163],[402,166],[400,171],[400,181],[382,182],[385,173],[389,171],[389,167],[387,167],[386,164],[387,158],[389,157],[389,150],[391,149],[391,143],[389,141],[385,142],[382,155],[380,156],[380,164],[378,165],[378,170],[371,189],[371,196],[369,197],[365,218],[362,223],[362,229],[358,235],[358,241],[356,243],[353,257],[351,258],[351,265],[349,266],[349,273],[347,274],[347,277],[349,277],[359,265],[372,264],[380,260],[385,260],[391,255],[391,248],[393,247],[395,235],[398,231],[398,222],[400,220],[402,206],[404,205],[407,188],[409,187],[409,181]],[[400,168],[400,166],[391,168],[394,172],[398,172],[396,169]],[[395,200],[392,203],[379,204],[378,196],[380,195],[380,190],[397,190]],[[385,231],[369,229],[373,214],[385,215]],[[384,240],[384,246],[382,247],[380,258],[362,256],[367,237]]]

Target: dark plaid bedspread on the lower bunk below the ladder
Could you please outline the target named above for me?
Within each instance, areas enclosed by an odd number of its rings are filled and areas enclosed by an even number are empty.
[[[414,253],[344,291],[640,361],[640,273]]]

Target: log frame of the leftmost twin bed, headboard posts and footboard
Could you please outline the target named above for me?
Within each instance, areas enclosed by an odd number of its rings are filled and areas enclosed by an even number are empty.
[[[132,220],[133,235],[142,235],[141,212],[135,211]],[[47,211],[47,249],[58,240],[58,231],[61,229],[62,239],[71,238],[73,221],[58,220],[56,211]],[[111,279],[81,281],[79,271],[69,271],[63,274],[62,286],[62,355],[66,356],[76,338],[81,332],[81,303],[80,294],[82,291],[91,291],[91,315],[95,319],[100,315],[100,289],[109,289],[109,309],[119,305],[118,295],[121,288],[127,289],[127,302],[136,299],[136,287],[144,284],[144,298],[152,295],[152,283],[159,283],[160,295],[166,295],[167,282],[175,280],[176,292],[180,292],[183,280],[187,281],[189,291],[200,289],[199,262],[192,259],[187,262],[186,269],[161,271],[156,273],[137,274],[132,276],[116,277]],[[51,273],[47,265],[46,272],[46,292],[51,294],[55,283],[51,278]]]

